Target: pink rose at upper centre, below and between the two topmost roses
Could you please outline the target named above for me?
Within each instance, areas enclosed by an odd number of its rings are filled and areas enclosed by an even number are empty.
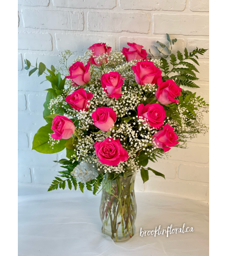
[[[109,98],[118,99],[121,94],[123,77],[117,72],[110,72],[101,76],[101,83]]]

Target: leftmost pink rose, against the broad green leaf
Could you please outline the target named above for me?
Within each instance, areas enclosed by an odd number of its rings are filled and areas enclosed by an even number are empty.
[[[53,139],[69,139],[75,131],[75,125],[67,117],[58,115],[53,119],[51,129],[54,131],[51,135]]]

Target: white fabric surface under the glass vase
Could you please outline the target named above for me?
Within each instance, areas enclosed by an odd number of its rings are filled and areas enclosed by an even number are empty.
[[[18,256],[208,256],[209,207],[190,199],[136,193],[135,236],[115,243],[101,232],[100,194],[19,186]],[[155,227],[194,232],[140,237]]]

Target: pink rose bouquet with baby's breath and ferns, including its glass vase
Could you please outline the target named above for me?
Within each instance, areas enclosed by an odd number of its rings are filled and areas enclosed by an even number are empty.
[[[186,148],[188,139],[205,134],[203,112],[208,104],[186,90],[198,87],[194,81],[198,56],[206,50],[171,53],[176,39],[158,41],[158,57],[143,46],[128,42],[129,48],[111,51],[105,43],[94,44],[67,66],[70,51],[62,54],[58,67],[38,71],[51,82],[46,89],[43,117],[47,124],[34,136],[33,150],[53,154],[66,148],[58,162],[64,170],[48,191],[86,186],[95,195],[102,191],[100,218],[102,232],[114,241],[135,234],[137,206],[134,183],[137,172],[143,182],[148,171],[165,178],[148,161],[167,157],[171,147]],[[168,55],[162,51],[167,48]],[[171,66],[171,68],[170,68]],[[99,187],[102,185],[102,189]]]

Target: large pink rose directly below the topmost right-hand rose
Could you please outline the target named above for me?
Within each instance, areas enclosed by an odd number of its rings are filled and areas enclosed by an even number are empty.
[[[132,67],[136,74],[136,82],[140,85],[145,83],[157,83],[157,79],[162,75],[162,71],[155,67],[152,61],[144,60],[136,63],[136,67]]]

